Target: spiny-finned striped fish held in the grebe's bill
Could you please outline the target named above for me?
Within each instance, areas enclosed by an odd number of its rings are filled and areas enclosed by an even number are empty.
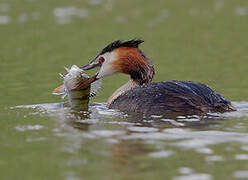
[[[59,74],[63,79],[63,85],[53,90],[54,95],[62,95],[62,99],[68,96],[67,106],[76,110],[88,110],[91,97],[95,97],[101,88],[101,80],[88,86],[78,88],[80,84],[89,80],[89,76],[77,65],[72,65],[70,69],[65,67],[66,74]]]

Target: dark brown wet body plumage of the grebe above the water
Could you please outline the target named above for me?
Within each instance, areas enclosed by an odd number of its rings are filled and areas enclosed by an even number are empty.
[[[204,84],[167,81],[137,86],[109,106],[129,114],[177,115],[206,114],[235,110],[230,101]]]

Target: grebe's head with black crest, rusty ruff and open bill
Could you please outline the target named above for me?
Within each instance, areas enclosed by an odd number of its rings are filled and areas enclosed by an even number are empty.
[[[129,74],[131,79],[139,85],[151,82],[154,68],[151,61],[138,48],[142,42],[144,41],[133,39],[110,43],[89,64],[81,67],[83,70],[95,67],[100,69],[79,88],[116,73]]]

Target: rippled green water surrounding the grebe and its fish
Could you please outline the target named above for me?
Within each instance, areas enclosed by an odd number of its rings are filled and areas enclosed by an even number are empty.
[[[248,179],[247,22],[244,0],[0,0],[0,179]],[[238,112],[137,121],[103,103],[84,117],[49,104],[64,66],[134,37],[155,81],[205,83]],[[104,79],[92,102],[127,79]],[[43,105],[15,108],[30,104]]]

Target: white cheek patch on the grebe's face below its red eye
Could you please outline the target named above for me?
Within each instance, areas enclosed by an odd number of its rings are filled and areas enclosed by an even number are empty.
[[[112,67],[112,63],[116,58],[116,53],[106,53],[103,55],[105,62],[102,64],[102,67],[100,68],[97,78],[103,78],[105,76],[109,76],[111,74],[115,74],[116,71]]]

